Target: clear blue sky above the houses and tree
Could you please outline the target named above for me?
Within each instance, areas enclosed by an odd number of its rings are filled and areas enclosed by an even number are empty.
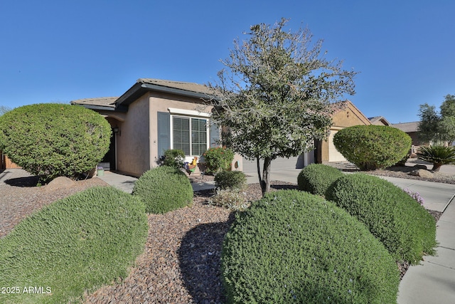
[[[417,121],[455,94],[455,1],[1,1],[0,105],[122,95],[138,78],[217,79],[232,41],[289,18],[360,72],[367,116]]]

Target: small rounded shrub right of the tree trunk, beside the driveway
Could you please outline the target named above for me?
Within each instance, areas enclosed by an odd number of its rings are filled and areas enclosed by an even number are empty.
[[[316,195],[326,195],[328,187],[343,176],[340,170],[326,164],[309,164],[297,177],[299,189]]]

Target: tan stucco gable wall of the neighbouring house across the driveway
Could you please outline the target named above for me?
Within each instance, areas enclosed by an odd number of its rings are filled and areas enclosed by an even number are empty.
[[[332,121],[331,131],[338,131],[345,127],[352,127],[353,125],[371,125],[370,120],[352,104],[348,104],[345,109],[333,114]],[[321,142],[320,157],[323,163],[328,162],[328,146],[327,140]]]

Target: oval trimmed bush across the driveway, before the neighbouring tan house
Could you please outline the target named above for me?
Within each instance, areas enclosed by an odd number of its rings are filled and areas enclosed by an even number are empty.
[[[411,149],[411,137],[395,127],[355,125],[333,136],[333,145],[362,170],[390,167]]]

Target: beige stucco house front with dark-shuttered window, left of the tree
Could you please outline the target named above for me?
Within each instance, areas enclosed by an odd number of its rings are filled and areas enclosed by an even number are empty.
[[[103,167],[140,176],[158,165],[168,149],[180,149],[186,161],[198,160],[218,146],[220,130],[210,124],[213,91],[205,85],[141,78],[119,98],[73,100],[106,117],[113,136]],[[242,159],[235,156],[236,169]],[[203,169],[200,164],[200,169]]]

